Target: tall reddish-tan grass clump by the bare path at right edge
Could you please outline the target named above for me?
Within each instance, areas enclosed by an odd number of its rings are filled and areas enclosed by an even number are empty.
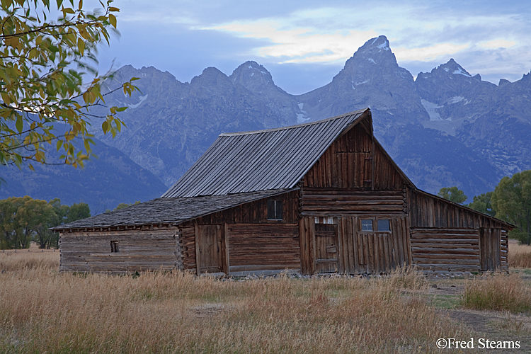
[[[531,312],[531,289],[517,274],[486,276],[466,285],[462,305],[469,309]]]

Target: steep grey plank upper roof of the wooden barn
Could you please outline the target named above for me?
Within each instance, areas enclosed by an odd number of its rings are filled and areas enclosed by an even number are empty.
[[[370,110],[317,122],[219,135],[162,198],[294,188],[342,132]]]

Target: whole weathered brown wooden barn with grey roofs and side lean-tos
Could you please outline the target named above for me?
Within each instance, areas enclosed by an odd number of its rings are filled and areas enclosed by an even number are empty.
[[[55,229],[61,271],[242,275],[506,269],[511,227],[416,188],[366,109],[219,135],[161,198]]]

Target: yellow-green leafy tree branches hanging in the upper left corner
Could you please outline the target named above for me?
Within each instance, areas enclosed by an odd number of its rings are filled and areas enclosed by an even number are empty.
[[[89,108],[105,105],[101,84],[112,75],[92,68],[98,44],[116,28],[119,9],[111,3],[89,12],[82,0],[0,1],[1,165],[50,164],[50,149],[61,152],[60,164],[89,159],[95,118]],[[134,79],[118,89],[131,95]],[[101,129],[114,136],[125,108],[107,109]]]

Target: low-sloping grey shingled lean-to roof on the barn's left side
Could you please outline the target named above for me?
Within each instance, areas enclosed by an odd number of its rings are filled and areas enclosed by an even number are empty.
[[[297,188],[292,188],[297,189]],[[95,227],[179,224],[212,212],[219,212],[246,202],[289,192],[290,189],[261,190],[229,195],[207,195],[193,198],[156,198],[123,209],[105,212],[69,224],[52,227],[54,231]]]

